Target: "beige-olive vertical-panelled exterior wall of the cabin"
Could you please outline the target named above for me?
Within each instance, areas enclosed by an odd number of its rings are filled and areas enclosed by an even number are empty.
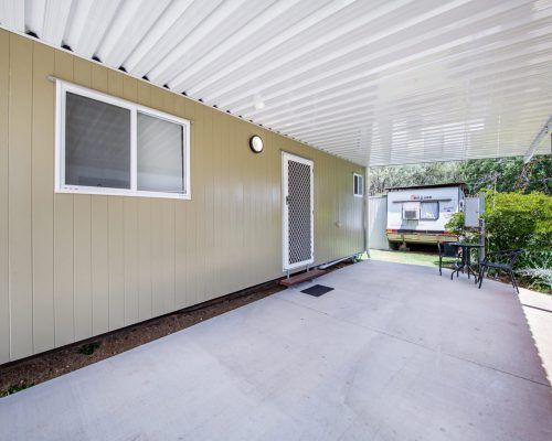
[[[192,200],[55,194],[47,75],[191,119]],[[283,276],[283,150],[315,162],[316,262],[361,251],[362,166],[0,30],[0,364]]]

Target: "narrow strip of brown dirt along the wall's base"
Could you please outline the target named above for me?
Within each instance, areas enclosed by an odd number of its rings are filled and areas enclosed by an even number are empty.
[[[333,271],[347,265],[351,263],[340,262],[328,268],[328,271]],[[284,289],[285,287],[278,284],[278,280],[275,280],[108,334],[98,335],[84,342],[1,365],[0,397],[120,354]]]

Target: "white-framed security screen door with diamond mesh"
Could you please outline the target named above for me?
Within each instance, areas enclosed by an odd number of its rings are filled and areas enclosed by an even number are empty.
[[[284,270],[315,261],[312,161],[283,153]]]

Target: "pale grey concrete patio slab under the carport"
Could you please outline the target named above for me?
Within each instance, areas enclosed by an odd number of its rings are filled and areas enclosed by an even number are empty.
[[[552,439],[511,287],[382,261],[316,283],[335,290],[305,283],[0,399],[0,439]]]

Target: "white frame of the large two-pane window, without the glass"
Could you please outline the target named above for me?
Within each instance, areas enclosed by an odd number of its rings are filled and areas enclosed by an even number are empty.
[[[190,189],[190,121],[188,119],[178,118],[149,107],[140,106],[136,103],[127,101],[126,99],[117,98],[100,92],[91,90],[86,87],[77,86],[61,79],[55,80],[55,189],[56,193],[77,193],[77,194],[103,194],[110,196],[139,196],[139,197],[166,197],[177,200],[191,200]],[[71,92],[87,98],[92,98],[102,103],[110,104],[117,107],[123,107],[130,110],[130,189],[108,189],[84,185],[66,185],[65,184],[65,105],[66,93]],[[164,119],[170,122],[181,125],[185,128],[183,135],[183,170],[184,170],[184,192],[148,192],[138,190],[138,139],[137,139],[137,115],[138,112],[149,115],[156,118]]]

